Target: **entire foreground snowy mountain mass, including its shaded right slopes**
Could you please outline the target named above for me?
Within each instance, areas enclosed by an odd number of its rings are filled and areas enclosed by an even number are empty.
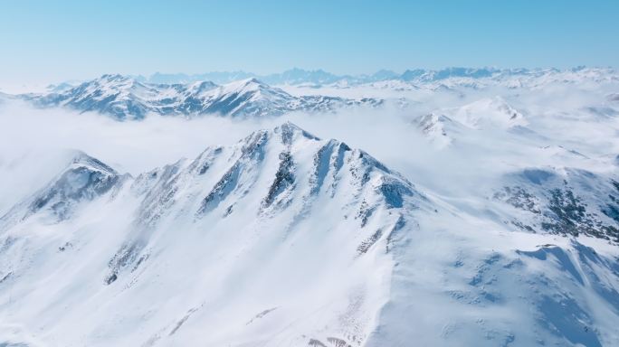
[[[618,180],[518,168],[477,206],[290,123],[135,177],[77,153],[0,219],[0,341],[614,345]]]

